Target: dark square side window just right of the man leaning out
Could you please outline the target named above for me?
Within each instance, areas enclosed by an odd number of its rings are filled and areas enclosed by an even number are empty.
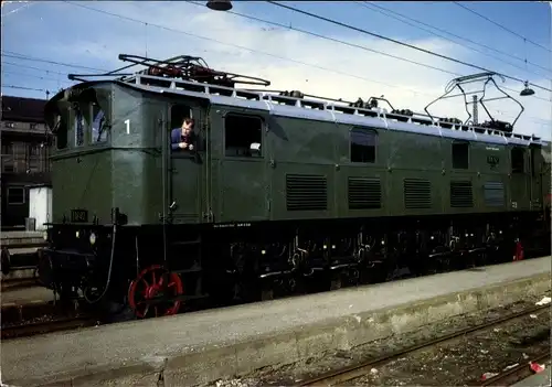
[[[224,119],[224,154],[262,157],[263,120],[258,117],[227,115]]]

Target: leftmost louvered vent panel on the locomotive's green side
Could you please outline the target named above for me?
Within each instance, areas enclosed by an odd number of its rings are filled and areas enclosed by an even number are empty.
[[[287,211],[325,211],[328,189],[325,176],[310,174],[286,175]]]

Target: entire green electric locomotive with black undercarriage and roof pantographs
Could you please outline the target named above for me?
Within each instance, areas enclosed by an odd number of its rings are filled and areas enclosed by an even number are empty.
[[[269,83],[198,57],[119,58],[144,67],[72,76],[46,106],[40,276],[65,299],[167,315],[550,248],[550,144],[510,123],[237,88]],[[197,147],[172,151],[184,117]]]

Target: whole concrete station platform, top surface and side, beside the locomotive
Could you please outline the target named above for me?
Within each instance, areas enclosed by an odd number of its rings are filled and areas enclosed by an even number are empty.
[[[463,313],[539,301],[551,258],[2,343],[14,386],[194,386],[400,334]]]

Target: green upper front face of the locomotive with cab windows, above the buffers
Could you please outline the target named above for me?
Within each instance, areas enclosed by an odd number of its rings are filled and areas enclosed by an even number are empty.
[[[56,186],[51,222],[109,219],[112,202],[110,87],[86,84],[65,89],[45,107],[55,147],[52,181]],[[102,221],[99,221],[102,222]]]

